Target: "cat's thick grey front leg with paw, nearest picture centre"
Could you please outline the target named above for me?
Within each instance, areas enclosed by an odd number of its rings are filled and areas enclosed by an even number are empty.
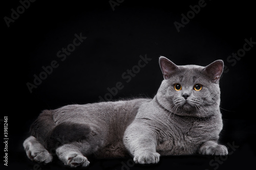
[[[126,129],[123,141],[126,149],[133,155],[135,163],[159,162],[160,154],[156,152],[156,135],[149,127],[132,123]]]

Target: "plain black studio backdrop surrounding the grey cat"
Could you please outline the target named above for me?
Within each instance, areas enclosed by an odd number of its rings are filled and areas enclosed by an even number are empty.
[[[177,65],[222,59],[220,81],[229,155],[89,159],[88,169],[249,169],[255,162],[255,6],[251,1],[8,1],[2,11],[4,169],[70,169],[31,162],[22,143],[44,109],[100,99],[153,98],[165,56]],[[2,135],[1,141],[5,141]],[[8,153],[8,166],[4,165]]]

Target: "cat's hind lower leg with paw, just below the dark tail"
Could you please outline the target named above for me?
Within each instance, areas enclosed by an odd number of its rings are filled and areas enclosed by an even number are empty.
[[[65,165],[71,167],[87,167],[90,163],[88,159],[82,155],[81,148],[78,147],[75,142],[63,144],[61,147],[57,148],[56,154]]]

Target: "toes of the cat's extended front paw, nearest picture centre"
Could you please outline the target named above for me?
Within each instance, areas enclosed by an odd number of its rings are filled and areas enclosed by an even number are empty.
[[[135,163],[139,164],[150,164],[150,163],[158,163],[159,162],[160,154],[155,153],[141,153],[138,155],[135,155],[133,158]]]

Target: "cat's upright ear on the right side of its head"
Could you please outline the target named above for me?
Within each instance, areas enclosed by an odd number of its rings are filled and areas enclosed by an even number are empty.
[[[223,67],[224,62],[222,60],[216,60],[204,67],[203,71],[212,82],[218,83],[223,72]]]

